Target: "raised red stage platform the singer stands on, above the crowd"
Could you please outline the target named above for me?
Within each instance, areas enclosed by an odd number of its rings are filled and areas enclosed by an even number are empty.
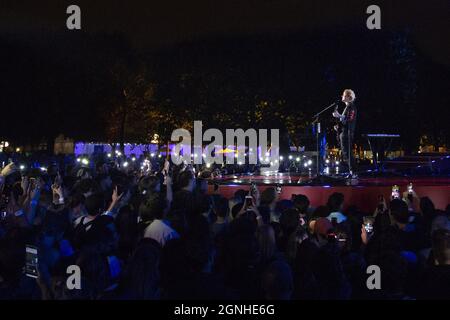
[[[333,192],[341,192],[345,196],[345,204],[356,205],[364,212],[372,212],[378,202],[378,196],[390,199],[393,185],[398,185],[400,191],[406,191],[407,185],[413,183],[414,191],[419,197],[428,196],[437,209],[445,210],[450,204],[449,177],[365,177],[354,180],[352,185],[344,183],[324,183],[323,185],[308,185],[312,181],[310,176],[290,175],[288,173],[271,176],[225,176],[210,182],[209,191],[213,192],[213,184],[219,184],[219,192],[231,198],[238,189],[248,190],[250,183],[258,185],[259,190],[280,184],[282,186],[281,199],[290,199],[293,194],[304,194],[316,207],[326,204]]]

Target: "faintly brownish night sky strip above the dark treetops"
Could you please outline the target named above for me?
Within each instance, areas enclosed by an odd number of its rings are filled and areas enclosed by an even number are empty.
[[[82,9],[83,32],[122,33],[138,48],[223,35],[283,34],[350,25],[365,28],[365,9],[378,4],[383,28],[410,28],[430,58],[450,65],[450,4],[446,0],[3,0],[0,32],[30,39],[66,31],[65,9],[70,4]]]

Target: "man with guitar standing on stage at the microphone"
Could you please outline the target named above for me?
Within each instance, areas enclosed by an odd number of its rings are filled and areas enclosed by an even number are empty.
[[[338,110],[333,112],[333,117],[338,118],[342,124],[339,133],[339,142],[341,145],[342,160],[349,166],[350,174],[352,174],[353,154],[352,142],[356,126],[356,105],[355,92],[351,89],[345,89],[342,93],[342,102],[345,103],[345,109],[341,113]]]

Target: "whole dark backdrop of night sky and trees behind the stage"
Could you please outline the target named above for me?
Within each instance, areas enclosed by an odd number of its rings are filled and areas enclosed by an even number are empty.
[[[81,31],[66,29],[70,4]],[[370,4],[381,30],[366,28]],[[353,88],[358,137],[448,145],[449,13],[447,0],[3,0],[0,140],[148,142],[203,120],[301,144],[311,116]]]

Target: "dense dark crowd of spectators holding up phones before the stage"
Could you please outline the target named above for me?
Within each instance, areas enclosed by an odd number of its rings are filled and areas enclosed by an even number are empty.
[[[208,172],[96,161],[0,174],[0,299],[449,299],[450,223],[405,195],[363,213],[252,186],[208,193]],[[344,210],[345,209],[345,210]],[[373,223],[367,225],[365,216]],[[25,249],[38,252],[27,276]],[[67,267],[81,286],[67,286]],[[367,267],[380,268],[370,289]]]

